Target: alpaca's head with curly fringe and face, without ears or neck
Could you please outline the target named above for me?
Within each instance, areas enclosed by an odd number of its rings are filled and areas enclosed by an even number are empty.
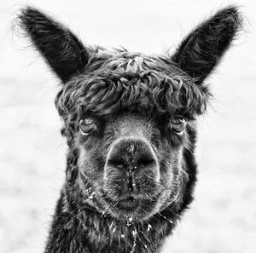
[[[183,150],[207,89],[163,57],[98,51],[90,60],[56,98],[77,150],[79,198],[118,219],[148,219],[183,198]]]

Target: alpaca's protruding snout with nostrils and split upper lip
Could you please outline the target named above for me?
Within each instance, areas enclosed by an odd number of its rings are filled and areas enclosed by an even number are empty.
[[[105,165],[105,180],[117,195],[143,195],[152,191],[159,179],[159,163],[148,141],[122,138],[113,143]]]

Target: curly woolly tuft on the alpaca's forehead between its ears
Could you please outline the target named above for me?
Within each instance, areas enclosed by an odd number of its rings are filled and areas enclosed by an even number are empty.
[[[67,113],[83,106],[98,116],[125,111],[201,114],[208,95],[166,56],[98,50],[84,73],[66,84],[57,103]]]

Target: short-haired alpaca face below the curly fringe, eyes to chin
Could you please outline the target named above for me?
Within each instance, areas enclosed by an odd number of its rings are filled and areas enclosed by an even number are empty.
[[[161,123],[137,113],[121,113],[90,118],[92,130],[84,135],[88,119],[82,119],[77,135],[79,187],[86,192],[90,182],[102,212],[143,220],[177,200],[186,180],[185,119]]]

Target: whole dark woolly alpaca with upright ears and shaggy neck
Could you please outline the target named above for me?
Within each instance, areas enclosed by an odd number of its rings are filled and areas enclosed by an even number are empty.
[[[238,9],[202,22],[172,56],[85,47],[32,7],[19,24],[61,80],[66,181],[44,252],[160,252],[193,200],[204,80],[241,29]]]

